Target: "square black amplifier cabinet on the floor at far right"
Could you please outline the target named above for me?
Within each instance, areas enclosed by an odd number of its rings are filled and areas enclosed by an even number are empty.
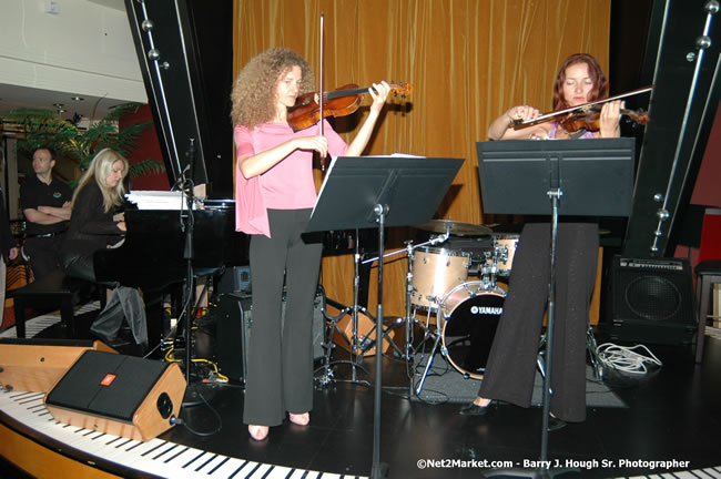
[[[616,256],[611,269],[611,339],[690,344],[695,329],[688,261]]]

